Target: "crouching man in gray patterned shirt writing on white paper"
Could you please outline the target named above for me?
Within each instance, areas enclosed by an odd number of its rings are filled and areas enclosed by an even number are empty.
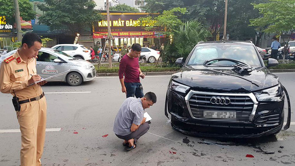
[[[135,142],[150,129],[143,117],[144,109],[157,102],[156,94],[146,93],[142,98],[127,98],[115,118],[113,131],[116,136],[124,139],[123,146],[129,151],[136,147]]]

